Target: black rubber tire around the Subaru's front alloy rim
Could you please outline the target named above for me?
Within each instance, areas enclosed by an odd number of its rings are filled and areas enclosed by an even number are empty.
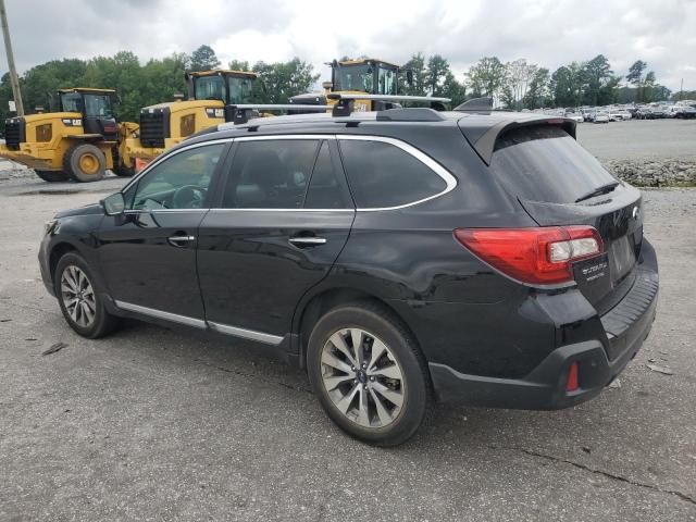
[[[72,268],[77,268],[79,271],[82,271],[82,273],[87,278],[87,282],[91,285],[95,312],[94,320],[89,322],[89,324],[79,324],[75,319],[73,319],[65,303],[67,294],[61,287],[61,279],[63,277],[63,274],[66,271],[70,271]],[[87,337],[89,339],[103,337],[104,335],[113,332],[120,326],[121,320],[115,315],[109,313],[104,308],[102,297],[104,294],[104,289],[101,288],[99,282],[95,278],[92,271],[78,253],[67,252],[58,261],[55,273],[53,275],[53,287],[55,288],[55,295],[58,296],[58,302],[61,307],[61,311],[63,312],[63,318],[65,318],[65,321],[67,322],[70,327],[83,337]]]

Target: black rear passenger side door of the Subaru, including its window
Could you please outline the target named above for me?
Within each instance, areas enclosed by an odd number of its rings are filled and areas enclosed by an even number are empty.
[[[211,327],[278,344],[302,295],[340,253],[355,209],[333,136],[238,138],[199,231]]]

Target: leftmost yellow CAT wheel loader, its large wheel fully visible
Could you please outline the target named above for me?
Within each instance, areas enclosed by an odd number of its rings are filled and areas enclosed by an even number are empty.
[[[27,165],[46,182],[96,182],[110,169],[120,176],[135,173],[125,139],[138,124],[117,123],[113,89],[59,89],[57,112],[9,117],[0,157]]]

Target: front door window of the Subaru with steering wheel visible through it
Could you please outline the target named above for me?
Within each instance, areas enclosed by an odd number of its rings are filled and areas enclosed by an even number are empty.
[[[126,195],[126,204],[135,210],[201,208],[224,147],[196,147],[167,158],[138,182],[132,199]]]

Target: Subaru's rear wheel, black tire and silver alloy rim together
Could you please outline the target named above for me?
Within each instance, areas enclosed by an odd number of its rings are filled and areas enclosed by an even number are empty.
[[[319,320],[309,339],[308,372],[328,417],[376,446],[408,440],[432,402],[415,339],[388,310],[371,302],[343,306]]]

